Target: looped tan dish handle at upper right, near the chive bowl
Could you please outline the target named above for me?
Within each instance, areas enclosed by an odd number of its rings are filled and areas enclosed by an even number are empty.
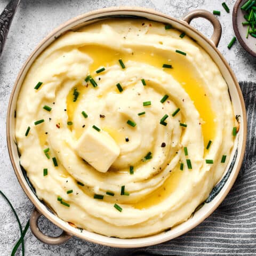
[[[186,21],[187,23],[190,23],[191,20],[199,17],[209,20],[212,23],[213,34],[210,40],[216,47],[218,47],[222,33],[222,28],[220,21],[211,12],[205,10],[194,10],[189,12],[185,17],[183,17],[182,20]]]

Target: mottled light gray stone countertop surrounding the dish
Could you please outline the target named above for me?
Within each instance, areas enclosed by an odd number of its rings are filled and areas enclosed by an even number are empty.
[[[9,0],[1,0],[0,11]],[[231,50],[227,49],[230,39],[234,36],[231,13],[222,8],[223,0],[22,0],[14,17],[11,31],[7,39],[3,55],[0,59],[0,190],[12,202],[24,227],[33,210],[33,205],[21,189],[11,166],[6,145],[6,111],[10,93],[20,68],[34,50],[36,45],[59,26],[62,22],[88,11],[110,6],[141,6],[180,18],[188,11],[206,9],[221,10],[219,17],[223,34],[219,50],[228,60],[238,81],[256,82],[256,58],[247,54],[238,42]],[[226,3],[233,9],[234,0]],[[210,23],[197,19],[191,23],[207,36],[212,33]],[[20,236],[18,223],[9,205],[0,197],[0,255],[10,255],[13,245]],[[47,234],[60,234],[60,230],[45,218],[41,218],[40,226]],[[110,249],[110,247],[93,245],[76,237],[66,244],[49,246],[39,242],[30,230],[25,239],[26,255],[126,255],[128,250]],[[121,254],[118,254],[121,253]],[[19,251],[17,255],[21,255]]]

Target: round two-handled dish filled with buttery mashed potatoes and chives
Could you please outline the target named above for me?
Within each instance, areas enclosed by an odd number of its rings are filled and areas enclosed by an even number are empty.
[[[214,27],[207,39],[189,22]],[[168,241],[207,218],[241,167],[246,113],[217,50],[221,26],[111,8],[55,29],[15,83],[7,142],[49,244],[72,235],[116,247]],[[45,215],[63,229],[43,234]]]

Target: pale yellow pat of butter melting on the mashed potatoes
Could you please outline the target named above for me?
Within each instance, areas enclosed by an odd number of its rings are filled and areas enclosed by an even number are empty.
[[[120,154],[120,148],[107,132],[92,127],[84,131],[75,150],[99,172],[107,172]]]

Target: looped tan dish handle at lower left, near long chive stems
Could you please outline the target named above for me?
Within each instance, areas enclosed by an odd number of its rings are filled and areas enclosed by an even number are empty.
[[[31,213],[29,221],[30,229],[38,240],[45,244],[58,245],[65,243],[66,241],[68,241],[69,238],[71,238],[72,235],[68,234],[66,231],[63,231],[62,234],[57,237],[44,235],[38,227],[38,219],[41,215],[42,213],[35,208],[34,211]]]

